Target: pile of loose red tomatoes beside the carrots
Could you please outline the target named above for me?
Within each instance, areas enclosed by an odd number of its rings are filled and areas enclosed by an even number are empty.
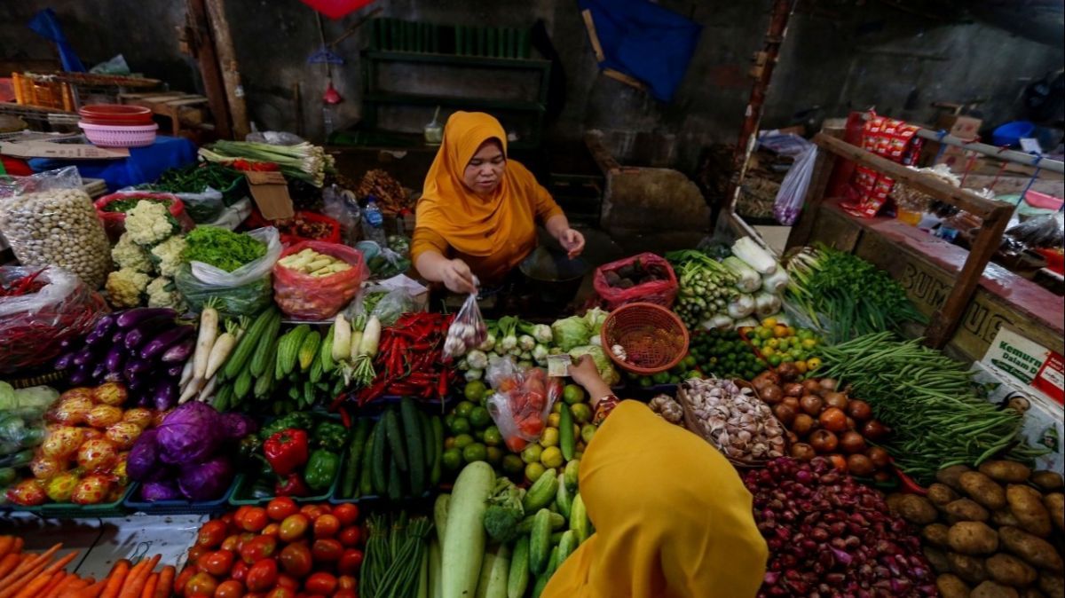
[[[365,530],[355,504],[279,497],[203,524],[175,583],[185,598],[358,598]]]

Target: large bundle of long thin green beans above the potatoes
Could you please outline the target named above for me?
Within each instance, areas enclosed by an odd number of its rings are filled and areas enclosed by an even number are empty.
[[[920,339],[867,334],[824,348],[822,356],[824,376],[850,385],[892,428],[887,448],[921,483],[950,465],[978,465],[1003,453],[1025,461],[1042,452],[1019,437],[1019,413],[980,396],[971,371]]]

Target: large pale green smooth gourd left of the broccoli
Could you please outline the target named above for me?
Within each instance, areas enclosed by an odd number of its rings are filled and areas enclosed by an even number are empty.
[[[474,462],[462,468],[448,501],[443,564],[444,598],[470,598],[477,591],[485,557],[485,510],[495,486],[492,466]]]

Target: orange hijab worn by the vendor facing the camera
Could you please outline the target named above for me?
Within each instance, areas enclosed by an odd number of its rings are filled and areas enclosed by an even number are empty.
[[[506,155],[507,133],[498,120],[481,112],[453,114],[417,203],[417,226],[436,231],[469,255],[489,255],[508,239],[531,238],[536,232],[525,196],[537,182],[528,169],[508,160],[503,181],[487,199],[462,182],[466,164],[488,139],[498,140]]]

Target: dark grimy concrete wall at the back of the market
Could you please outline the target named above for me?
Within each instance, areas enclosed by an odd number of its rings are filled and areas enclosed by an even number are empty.
[[[378,0],[383,16],[458,24],[527,27],[544,20],[562,56],[568,100],[548,134],[579,139],[599,129],[623,162],[691,172],[702,148],[735,139],[749,94],[746,72],[759,49],[770,0],[661,0],[704,29],[688,74],[670,104],[597,73],[584,24],[572,0]],[[260,128],[322,131],[326,69],[307,57],[321,45],[314,13],[296,0],[227,0],[247,93]],[[986,99],[987,121],[1018,116],[1023,83],[1061,68],[1063,48],[1016,37],[976,22],[946,22],[867,2],[801,2],[788,32],[766,106],[765,127],[819,123],[852,109],[931,120],[937,100]],[[195,70],[178,53],[175,28],[181,0],[23,0],[0,2],[0,55],[42,59],[48,44],[24,22],[52,6],[87,64],[122,52],[134,70],[194,89]],[[828,7],[825,7],[828,6]],[[324,19],[333,39],[356,20]],[[347,62],[333,67],[346,101],[341,121],[359,116],[360,31],[337,49]],[[299,102],[295,86],[299,84]],[[445,92],[446,93],[446,92]],[[296,116],[300,115],[297,122]]]

